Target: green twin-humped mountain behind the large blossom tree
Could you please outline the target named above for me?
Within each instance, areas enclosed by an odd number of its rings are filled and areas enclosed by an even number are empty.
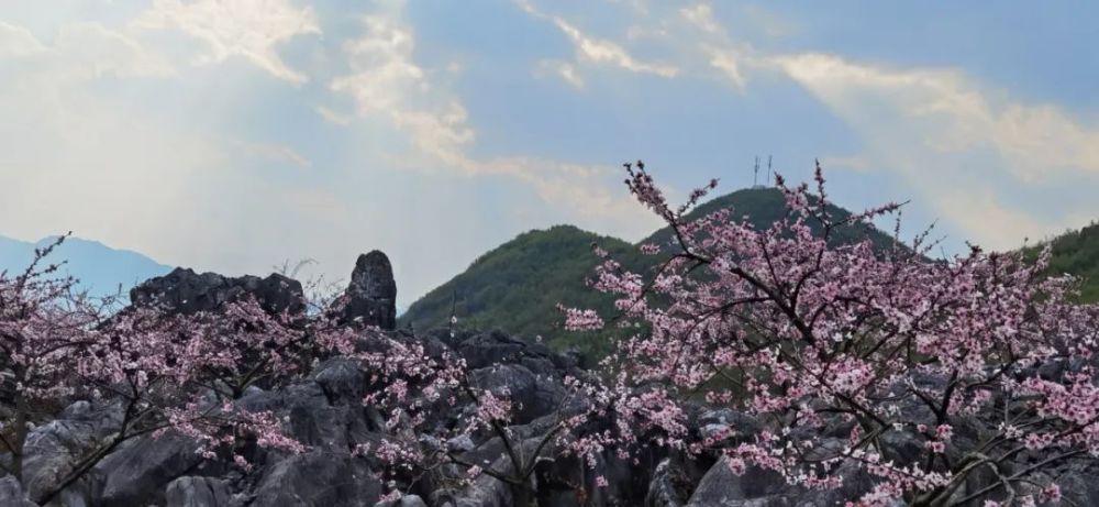
[[[730,207],[733,216],[746,214],[758,228],[768,227],[786,214],[781,192],[754,188],[704,202],[687,218],[700,218]],[[839,217],[850,216],[840,208],[832,211]],[[876,244],[891,242],[888,235],[869,225],[846,228],[840,231],[839,241],[858,241],[868,235]],[[610,350],[614,334],[621,331],[566,332],[555,309],[562,302],[595,309],[604,318],[615,315],[614,298],[597,293],[586,283],[598,264],[592,244],[607,250],[626,268],[646,273],[662,258],[642,255],[637,246],[670,239],[669,229],[656,231],[637,244],[571,225],[526,232],[481,255],[464,273],[413,302],[399,319],[399,326],[411,324],[417,330],[445,327],[453,311],[462,328],[500,329],[529,339],[541,335],[556,349],[575,345],[598,356]]]

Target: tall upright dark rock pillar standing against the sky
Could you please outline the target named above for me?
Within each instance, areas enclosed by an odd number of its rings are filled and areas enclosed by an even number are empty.
[[[358,256],[351,284],[334,310],[347,323],[397,328],[397,283],[386,254],[375,250]]]

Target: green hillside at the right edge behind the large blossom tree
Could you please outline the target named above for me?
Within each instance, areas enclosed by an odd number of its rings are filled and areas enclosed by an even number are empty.
[[[1099,223],[1026,247],[1025,253],[1036,257],[1046,244],[1053,246],[1053,257],[1046,272],[1081,278],[1080,302],[1099,302]]]

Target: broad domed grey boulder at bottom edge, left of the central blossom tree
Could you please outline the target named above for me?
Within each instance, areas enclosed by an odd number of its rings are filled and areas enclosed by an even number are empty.
[[[373,506],[381,494],[365,460],[312,451],[275,464],[256,486],[253,505],[265,507]]]

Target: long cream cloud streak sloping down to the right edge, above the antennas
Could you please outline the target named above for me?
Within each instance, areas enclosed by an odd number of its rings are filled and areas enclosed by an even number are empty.
[[[872,124],[888,126],[879,124],[879,114],[889,112],[899,117],[891,120],[917,130],[912,141],[940,153],[995,150],[1023,180],[1044,179],[1058,169],[1099,173],[1099,128],[1051,104],[1013,102],[961,71],[887,69],[822,54],[774,62],[867,133]],[[873,103],[889,111],[874,110]]]

